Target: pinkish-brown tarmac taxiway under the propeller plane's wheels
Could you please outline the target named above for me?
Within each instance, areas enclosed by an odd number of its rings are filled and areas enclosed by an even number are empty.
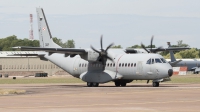
[[[3,84],[0,88],[23,89],[19,95],[0,96],[2,112],[155,112],[200,110],[200,84],[161,83],[100,87],[82,84]]]

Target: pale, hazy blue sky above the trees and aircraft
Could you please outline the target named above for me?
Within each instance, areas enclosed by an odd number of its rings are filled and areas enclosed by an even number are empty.
[[[36,7],[42,7],[53,37],[73,39],[76,48],[100,48],[110,43],[127,48],[167,42],[200,49],[199,0],[0,0],[0,38],[29,38],[33,14],[38,40]]]

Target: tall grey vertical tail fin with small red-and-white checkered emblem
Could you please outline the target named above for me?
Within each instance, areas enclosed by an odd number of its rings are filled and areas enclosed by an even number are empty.
[[[47,20],[42,8],[36,8],[37,21],[38,21],[38,31],[40,38],[40,47],[55,47],[60,48],[59,45],[53,42],[53,38],[47,24]]]

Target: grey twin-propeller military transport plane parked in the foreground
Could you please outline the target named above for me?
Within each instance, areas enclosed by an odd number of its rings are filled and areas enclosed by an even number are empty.
[[[52,40],[43,9],[36,8],[36,11],[40,47],[14,48],[40,51],[37,54],[40,59],[51,61],[72,76],[87,82],[88,87],[97,87],[99,83],[109,81],[115,82],[115,86],[126,86],[133,80],[147,80],[147,83],[152,80],[153,87],[158,87],[163,79],[173,74],[171,65],[161,55],[131,54],[134,50],[110,49],[113,44],[104,49],[102,37],[100,49],[92,46],[87,49],[61,48]]]

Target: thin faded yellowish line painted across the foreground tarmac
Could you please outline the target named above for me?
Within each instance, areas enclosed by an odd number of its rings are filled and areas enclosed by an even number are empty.
[[[95,106],[121,106],[121,105],[145,105],[145,104],[165,104],[165,103],[195,103],[200,100],[179,100],[166,102],[140,102],[140,103],[119,103],[119,104],[85,104],[85,105],[62,105],[62,106],[35,106],[35,107],[0,107],[2,109],[38,109],[38,108],[72,108],[72,107],[95,107]]]

